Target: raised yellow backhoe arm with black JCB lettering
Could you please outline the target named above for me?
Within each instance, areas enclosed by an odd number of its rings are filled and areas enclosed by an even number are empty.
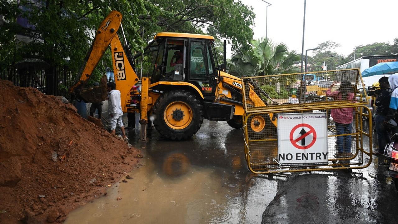
[[[96,31],[96,36],[84,60],[84,65],[80,69],[78,78],[69,88],[71,94],[85,102],[99,102],[107,97],[107,77],[102,77],[100,86],[86,88],[94,69],[103,57],[107,47],[111,45],[114,80],[116,88],[121,92],[121,105],[123,112],[127,112],[127,104],[130,104],[130,90],[137,81],[137,74],[133,69],[132,62],[129,61],[123,45],[117,35],[121,28],[122,14],[113,10],[103,20]],[[122,27],[123,29],[123,27]]]

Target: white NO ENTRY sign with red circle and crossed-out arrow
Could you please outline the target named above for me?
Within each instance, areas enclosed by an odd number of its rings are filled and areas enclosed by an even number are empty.
[[[278,114],[278,160],[283,164],[327,164],[326,113]]]

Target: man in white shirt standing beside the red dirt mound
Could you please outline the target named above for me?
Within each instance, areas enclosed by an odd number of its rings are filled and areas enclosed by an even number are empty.
[[[116,89],[116,83],[110,82],[108,83],[108,111],[111,116],[110,125],[111,125],[111,133],[116,134],[116,125],[120,127],[123,134],[123,139],[127,139],[125,134],[122,116],[123,110],[120,102],[120,91]]]

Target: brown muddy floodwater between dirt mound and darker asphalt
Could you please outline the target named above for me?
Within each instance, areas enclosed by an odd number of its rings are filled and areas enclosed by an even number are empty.
[[[252,178],[244,159],[242,130],[205,121],[188,141],[168,141],[156,130],[137,142],[142,166],[120,180],[106,196],[68,215],[81,223],[260,223],[276,194],[277,181]],[[119,198],[119,200],[118,200]]]

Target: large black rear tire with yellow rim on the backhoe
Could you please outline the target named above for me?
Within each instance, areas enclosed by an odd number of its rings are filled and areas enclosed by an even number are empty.
[[[203,105],[186,90],[172,90],[162,94],[155,102],[153,124],[158,132],[171,140],[191,138],[202,126]]]

